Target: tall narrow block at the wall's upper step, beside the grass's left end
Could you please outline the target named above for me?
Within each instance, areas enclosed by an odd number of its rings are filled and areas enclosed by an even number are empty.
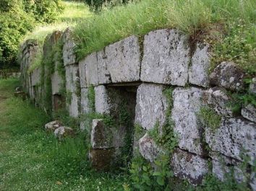
[[[63,33],[62,40],[64,43],[62,52],[64,66],[76,63],[76,56],[74,54],[75,44],[72,38],[72,30],[67,28]]]

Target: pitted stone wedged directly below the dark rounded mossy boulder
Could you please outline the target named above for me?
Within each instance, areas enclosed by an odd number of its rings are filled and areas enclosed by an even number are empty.
[[[233,117],[234,112],[229,107],[231,99],[226,92],[226,89],[213,87],[202,94],[202,100],[205,104],[210,105],[218,113],[226,117]]]

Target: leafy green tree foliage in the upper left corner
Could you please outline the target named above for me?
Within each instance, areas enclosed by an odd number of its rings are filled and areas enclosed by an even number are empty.
[[[0,67],[17,66],[17,53],[20,42],[28,31],[38,23],[56,20],[62,11],[59,0],[0,2]]]

